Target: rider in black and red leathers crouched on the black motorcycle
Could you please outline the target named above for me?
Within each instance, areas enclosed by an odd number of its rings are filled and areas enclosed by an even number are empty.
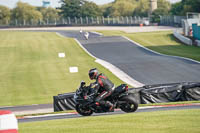
[[[112,94],[115,85],[104,74],[99,73],[96,68],[89,70],[89,77],[91,80],[96,80],[90,84],[90,87],[94,88],[94,93],[100,93],[95,98],[96,105],[104,105],[109,108],[109,111],[113,111],[113,104],[110,101],[106,101],[105,98]]]

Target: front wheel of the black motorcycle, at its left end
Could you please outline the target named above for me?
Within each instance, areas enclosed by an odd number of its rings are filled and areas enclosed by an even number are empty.
[[[76,105],[76,111],[83,116],[90,116],[93,113],[91,109],[82,106],[82,104]]]

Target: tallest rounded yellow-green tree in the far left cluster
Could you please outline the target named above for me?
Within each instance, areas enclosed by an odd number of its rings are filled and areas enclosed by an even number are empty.
[[[42,20],[42,14],[34,6],[18,2],[17,7],[12,10],[12,19],[21,24],[26,24],[27,22],[33,24]]]

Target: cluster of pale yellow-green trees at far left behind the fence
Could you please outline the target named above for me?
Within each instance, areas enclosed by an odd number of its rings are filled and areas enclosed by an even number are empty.
[[[59,9],[51,7],[35,7],[28,3],[18,2],[13,9],[0,6],[0,24],[8,24],[10,21],[23,24],[33,24],[44,20],[53,21],[60,18],[59,12]]]

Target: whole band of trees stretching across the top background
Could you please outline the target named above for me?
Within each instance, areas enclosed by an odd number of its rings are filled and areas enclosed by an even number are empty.
[[[13,9],[0,6],[0,24],[9,23],[11,20],[24,24],[47,23],[67,17],[148,17],[150,11],[149,0],[115,0],[104,5],[96,5],[86,0],[61,0],[60,2],[61,7],[58,8],[34,7],[20,1]],[[174,4],[170,4],[167,0],[158,0],[158,8],[152,13],[152,20],[159,21],[160,15],[185,15],[187,12],[200,12],[199,7],[200,0],[182,0]]]

